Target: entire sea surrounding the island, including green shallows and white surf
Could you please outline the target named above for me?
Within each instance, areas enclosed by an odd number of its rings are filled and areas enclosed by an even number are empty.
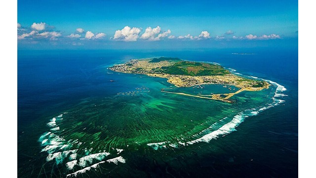
[[[266,80],[234,103],[108,67],[179,57]],[[297,48],[18,50],[18,177],[298,177]],[[178,88],[228,92],[221,85]]]

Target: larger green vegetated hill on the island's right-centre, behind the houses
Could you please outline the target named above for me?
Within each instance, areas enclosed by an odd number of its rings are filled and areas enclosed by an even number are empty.
[[[219,65],[190,61],[180,61],[162,69],[163,73],[172,75],[214,76],[230,73]]]

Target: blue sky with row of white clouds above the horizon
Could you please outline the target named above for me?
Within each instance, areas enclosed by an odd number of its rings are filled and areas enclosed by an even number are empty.
[[[298,1],[17,0],[17,39],[18,49],[297,44]]]

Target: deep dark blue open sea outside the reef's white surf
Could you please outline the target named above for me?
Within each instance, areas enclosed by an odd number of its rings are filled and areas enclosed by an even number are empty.
[[[47,130],[47,121],[78,107],[78,103],[112,97],[118,89],[153,86],[125,74],[110,75],[107,67],[129,59],[159,56],[216,62],[236,73],[274,81],[286,88],[283,93],[287,96],[281,104],[248,117],[225,137],[174,150],[135,149],[128,156],[125,153],[126,163],[98,168],[79,177],[298,177],[298,49],[268,47],[18,50],[18,177],[71,174],[64,172],[60,164],[47,166],[47,154],[40,152],[39,138]],[[115,87],[111,80],[117,82]],[[162,79],[155,80],[166,85]]]

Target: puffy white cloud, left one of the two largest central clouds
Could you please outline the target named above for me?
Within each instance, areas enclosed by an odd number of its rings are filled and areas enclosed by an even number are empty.
[[[113,39],[125,42],[137,41],[140,31],[140,28],[130,28],[129,26],[125,26],[122,30],[117,30],[115,32]]]

